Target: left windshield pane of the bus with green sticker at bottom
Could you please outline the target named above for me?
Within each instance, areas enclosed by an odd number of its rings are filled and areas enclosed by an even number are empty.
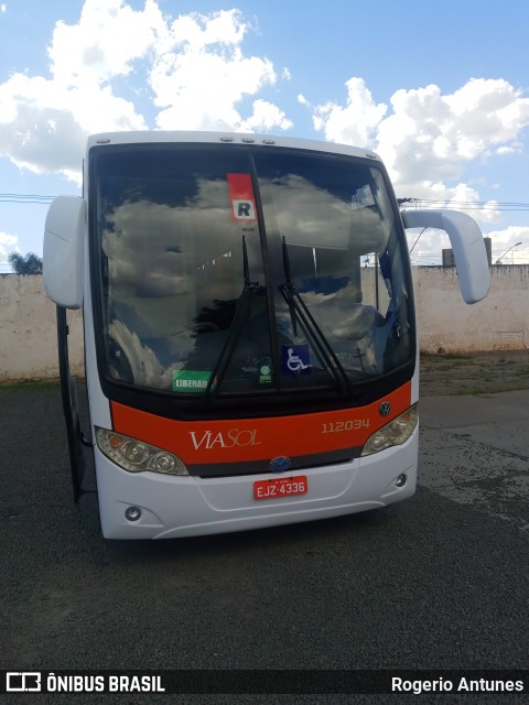
[[[269,361],[267,302],[257,289],[264,283],[259,227],[255,219],[233,217],[229,196],[229,175],[249,178],[248,172],[244,156],[212,160],[185,151],[177,158],[118,152],[99,164],[102,319],[111,378],[120,379],[127,360],[132,379],[125,381],[202,391],[240,301],[244,258],[256,295],[227,386],[255,382],[255,358]]]

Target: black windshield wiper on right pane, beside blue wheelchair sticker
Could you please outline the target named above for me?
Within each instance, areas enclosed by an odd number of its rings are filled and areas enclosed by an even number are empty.
[[[332,345],[325,337],[323,330],[317,325],[316,319],[310,312],[307,305],[305,304],[292,282],[289,250],[284,236],[282,250],[285,283],[280,284],[279,291],[281,292],[281,295],[289,306],[290,317],[292,321],[292,330],[294,335],[298,335],[296,322],[299,321],[306,337],[313,340],[314,350],[320,359],[320,362],[322,362],[322,365],[324,365],[331,371],[341,390],[345,393],[350,393],[353,391],[353,387],[347,372],[344,369],[344,366],[336,357],[336,352],[333,350]]]

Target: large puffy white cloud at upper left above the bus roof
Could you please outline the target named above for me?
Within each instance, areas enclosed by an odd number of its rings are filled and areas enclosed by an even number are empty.
[[[55,25],[48,76],[18,73],[0,84],[0,156],[76,178],[88,133],[289,129],[268,101],[242,113],[247,98],[277,82],[268,58],[242,53],[249,29],[237,10],[173,20],[155,0],[139,11],[86,0],[77,24]]]

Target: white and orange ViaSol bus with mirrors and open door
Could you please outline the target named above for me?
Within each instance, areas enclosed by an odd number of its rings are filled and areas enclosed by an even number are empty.
[[[410,497],[418,339],[406,227],[447,231],[467,303],[482,234],[401,214],[380,159],[207,132],[88,139],[84,195],[44,237],[74,498],[95,459],[102,533],[166,539],[348,514]],[[66,308],[83,307],[90,433]]]

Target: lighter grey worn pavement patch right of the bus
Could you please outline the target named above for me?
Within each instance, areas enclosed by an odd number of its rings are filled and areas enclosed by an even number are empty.
[[[529,538],[529,390],[425,397],[420,409],[420,485]]]

